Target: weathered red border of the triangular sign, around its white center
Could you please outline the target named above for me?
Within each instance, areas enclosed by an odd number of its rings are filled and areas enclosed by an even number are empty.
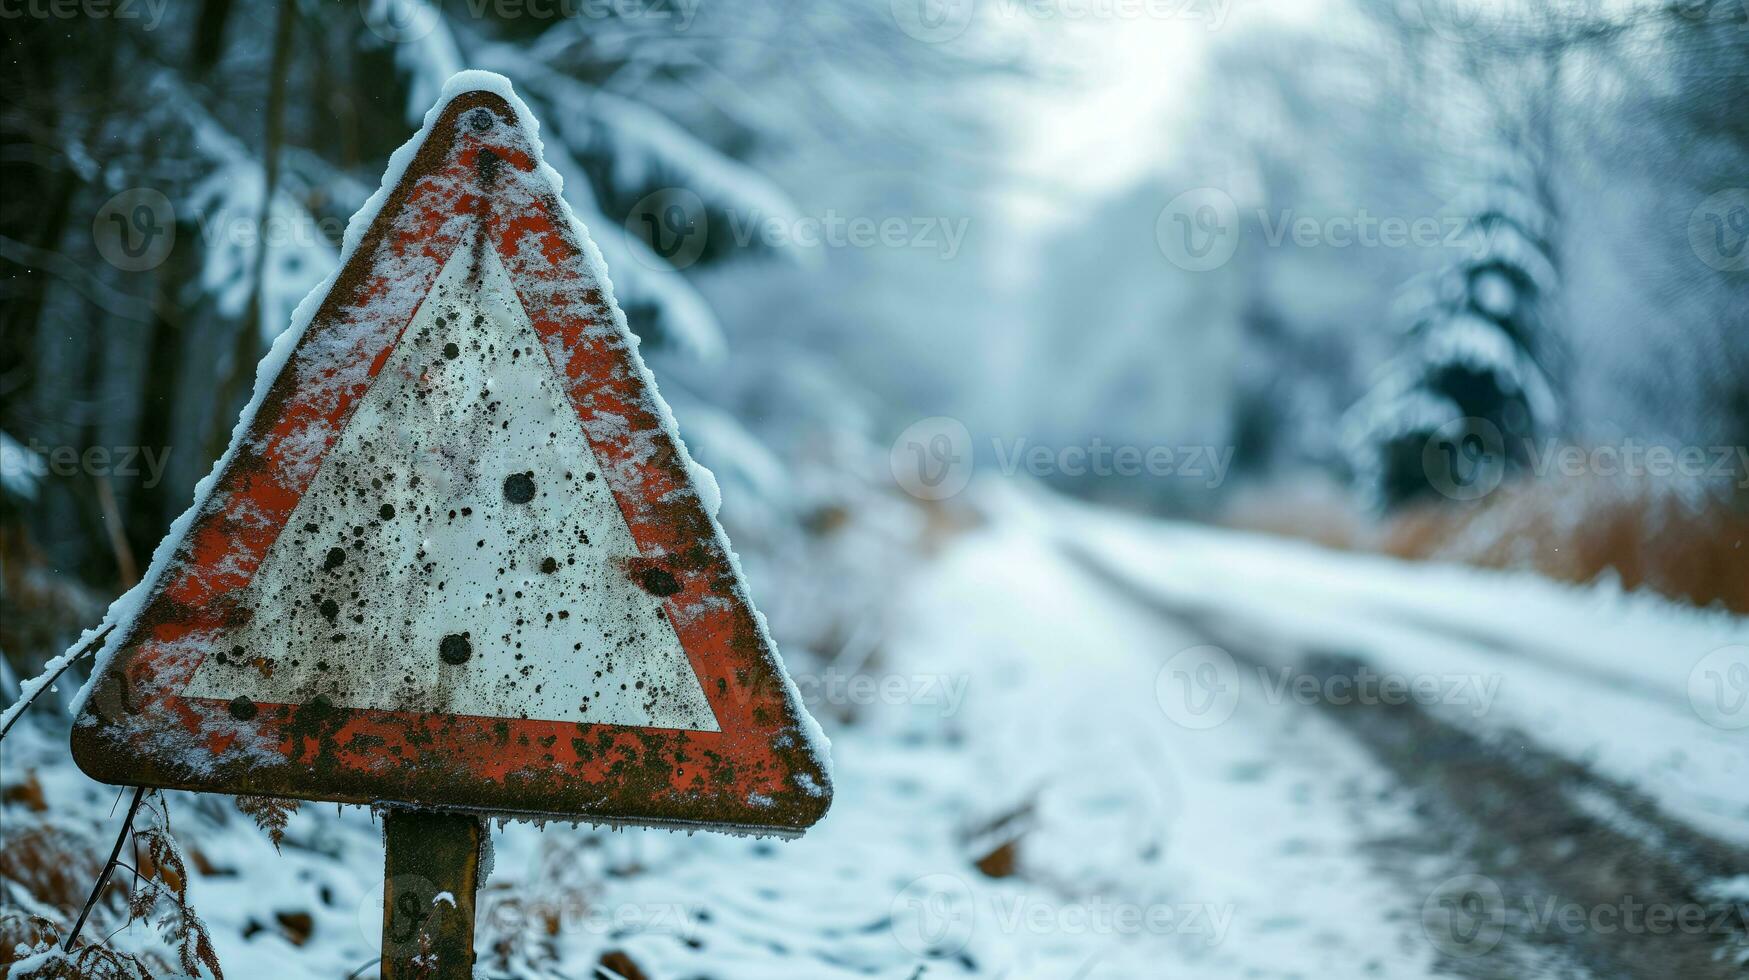
[[[161,546],[138,612],[87,690],[73,758],[112,784],[799,833],[831,803],[826,738],[703,509],[600,254],[539,159],[532,117],[507,84],[500,93],[458,80],[427,117],[404,173],[392,187],[394,172],[385,178],[381,208],[240,425],[192,520],[178,522],[185,532]],[[481,233],[469,234],[474,228]],[[203,642],[250,614],[238,597],[442,264],[458,247],[488,245],[637,542],[640,558],[624,570],[668,592],[663,607],[721,730],[343,709],[324,698],[233,710],[180,696],[199,658],[215,653]]]

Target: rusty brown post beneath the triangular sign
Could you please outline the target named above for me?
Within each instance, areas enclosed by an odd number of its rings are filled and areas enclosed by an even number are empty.
[[[383,980],[470,980],[479,819],[383,812]]]

